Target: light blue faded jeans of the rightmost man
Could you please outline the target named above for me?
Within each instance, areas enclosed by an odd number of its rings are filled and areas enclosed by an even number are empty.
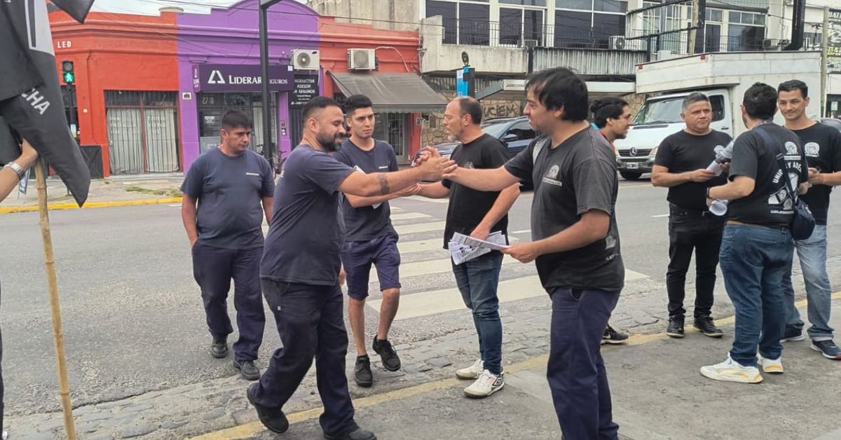
[[[833,338],[833,327],[829,326],[829,311],[832,308],[832,287],[827,273],[827,226],[815,225],[812,236],[806,240],[795,241],[797,257],[806,282],[806,298],[809,302],[807,311],[808,333],[812,341],[827,341]],[[783,292],[788,320],[785,326],[803,329],[800,312],[794,306],[794,289],[791,287],[791,268],[783,276]]]

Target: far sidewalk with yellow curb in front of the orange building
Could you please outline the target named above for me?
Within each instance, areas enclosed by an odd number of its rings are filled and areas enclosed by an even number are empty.
[[[136,204],[169,204],[181,202],[181,172],[118,176],[91,181],[85,208],[130,206]],[[77,209],[78,206],[61,179],[47,179],[47,203],[53,209]],[[38,210],[38,191],[34,178],[29,180],[26,194],[17,190],[0,203],[0,214]]]

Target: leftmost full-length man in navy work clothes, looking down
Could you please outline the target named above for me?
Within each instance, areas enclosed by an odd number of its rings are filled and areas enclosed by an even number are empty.
[[[262,219],[272,219],[274,175],[266,159],[248,150],[251,118],[230,110],[222,118],[222,143],[198,156],[181,186],[181,216],[193,247],[193,276],[202,289],[204,312],[214,358],[228,355],[233,332],[228,317],[228,291],[234,280],[236,326],[234,366],[256,380],[254,364],[266,326],[260,297]],[[198,209],[196,204],[198,202]]]

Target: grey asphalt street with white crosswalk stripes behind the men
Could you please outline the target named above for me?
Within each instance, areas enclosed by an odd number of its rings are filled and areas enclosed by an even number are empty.
[[[648,180],[621,182],[617,216],[629,279],[613,323],[634,333],[664,330],[668,205]],[[532,193],[510,213],[510,236],[530,240]],[[841,199],[833,195],[828,236],[830,273],[841,282]],[[412,344],[467,330],[447,253],[440,248],[446,200],[393,202],[404,267],[401,314],[391,339]],[[209,357],[198,287],[177,205],[79,209],[50,213],[61,291],[67,366],[74,406],[120,400],[153,390],[235,376],[230,361]],[[317,231],[314,231],[317,233]],[[6,413],[59,411],[50,307],[37,213],[0,215],[3,377]],[[690,271],[691,272],[691,271]],[[516,321],[547,300],[533,286],[533,264],[506,263],[502,314]],[[689,283],[694,278],[689,275]],[[799,281],[796,279],[796,288]],[[371,284],[373,304],[379,298]],[[690,288],[691,289],[691,288]],[[501,290],[501,289],[500,289]],[[691,304],[692,293],[688,294]],[[446,299],[455,297],[455,303]],[[717,317],[729,313],[719,280]],[[444,299],[444,300],[442,300]],[[405,307],[403,306],[405,305]],[[404,310],[405,309],[405,310]],[[233,305],[230,302],[233,316]],[[368,314],[373,328],[375,314]],[[267,316],[262,366],[279,345]],[[722,352],[723,353],[723,352]]]

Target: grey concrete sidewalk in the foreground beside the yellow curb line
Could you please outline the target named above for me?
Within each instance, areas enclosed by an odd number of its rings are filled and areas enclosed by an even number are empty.
[[[834,295],[833,306],[841,306]],[[802,305],[802,302],[799,304]],[[838,328],[841,319],[834,319]],[[685,339],[634,337],[627,346],[604,347],[613,413],[620,438],[841,438],[841,362],[822,358],[805,342],[786,342],[785,374],[764,374],[761,384],[706,379],[701,365],[721,362],[733,335],[733,319],[719,321],[722,339],[688,331]],[[380,440],[560,438],[546,383],[547,356],[506,367],[505,389],[485,400],[463,396],[467,383],[443,379],[354,401],[357,421]],[[289,415],[283,435],[252,421],[196,439],[319,438],[320,408]]]

